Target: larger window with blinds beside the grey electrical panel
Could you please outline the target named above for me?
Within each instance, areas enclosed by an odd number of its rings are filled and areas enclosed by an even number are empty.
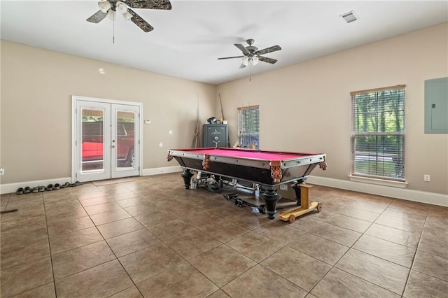
[[[351,175],[405,180],[405,87],[351,92]]]

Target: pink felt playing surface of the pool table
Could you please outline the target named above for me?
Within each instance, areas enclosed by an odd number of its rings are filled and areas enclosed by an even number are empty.
[[[183,150],[182,150],[183,151]],[[293,153],[293,152],[274,152],[274,151],[255,151],[255,150],[239,150],[233,148],[196,148],[196,149],[185,149],[185,151],[225,156],[225,157],[241,157],[241,158],[251,158],[251,159],[262,159],[269,161],[279,161],[284,159],[294,159],[298,157],[303,157],[309,155],[309,153]]]

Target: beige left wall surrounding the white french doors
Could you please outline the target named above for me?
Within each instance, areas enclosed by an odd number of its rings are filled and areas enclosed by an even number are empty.
[[[214,111],[215,91],[214,85],[1,41],[1,184],[71,176],[71,95],[142,102],[142,118],[151,120],[143,125],[144,169],[151,169],[177,165],[167,162],[167,150],[191,146],[197,101],[203,123]]]

